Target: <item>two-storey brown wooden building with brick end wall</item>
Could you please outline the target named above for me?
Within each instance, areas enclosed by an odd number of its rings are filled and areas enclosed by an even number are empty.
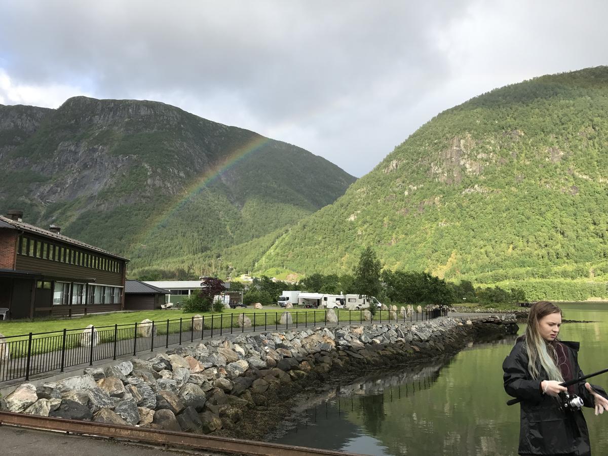
[[[9,211],[0,215],[0,308],[11,319],[122,310],[128,261]]]

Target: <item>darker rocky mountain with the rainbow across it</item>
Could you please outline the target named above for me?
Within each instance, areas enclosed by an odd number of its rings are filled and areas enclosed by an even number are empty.
[[[246,272],[353,176],[164,103],[0,106],[0,209],[131,258],[130,273]]]

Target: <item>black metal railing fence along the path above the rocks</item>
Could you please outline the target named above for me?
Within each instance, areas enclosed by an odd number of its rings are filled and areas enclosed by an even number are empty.
[[[0,339],[0,382],[63,372],[76,365],[117,359],[155,348],[168,348],[223,334],[252,331],[297,330],[308,326],[417,322],[446,316],[447,311],[378,310],[370,319],[365,310],[314,310],[230,313],[193,316],[132,325],[91,326],[51,333],[29,333]]]

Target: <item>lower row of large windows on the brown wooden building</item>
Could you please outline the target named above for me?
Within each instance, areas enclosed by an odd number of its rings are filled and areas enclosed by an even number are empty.
[[[122,288],[109,285],[91,285],[90,283],[43,282],[38,280],[39,289],[53,289],[53,305],[94,305],[119,304],[122,302]]]

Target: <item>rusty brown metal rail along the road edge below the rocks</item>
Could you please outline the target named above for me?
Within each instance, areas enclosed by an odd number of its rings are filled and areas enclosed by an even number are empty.
[[[360,456],[356,453],[342,451],[322,450],[238,438],[215,437],[212,435],[189,434],[187,432],[174,432],[170,430],[148,429],[146,427],[115,426],[113,424],[93,423],[91,421],[66,420],[64,418],[24,415],[12,412],[0,412],[0,425],[4,424],[29,427],[31,429],[55,430],[69,434],[109,437],[138,443],[167,445],[178,449],[198,449],[258,456]]]

